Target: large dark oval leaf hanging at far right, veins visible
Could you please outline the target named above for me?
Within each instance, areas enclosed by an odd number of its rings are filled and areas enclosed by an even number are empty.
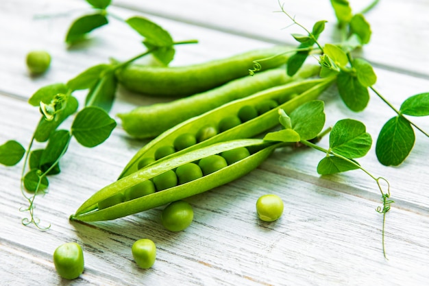
[[[397,166],[404,162],[415,143],[413,127],[402,116],[387,121],[376,144],[376,155],[380,163]]]

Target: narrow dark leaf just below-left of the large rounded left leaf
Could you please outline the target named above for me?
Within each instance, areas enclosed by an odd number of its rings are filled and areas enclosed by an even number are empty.
[[[70,137],[71,134],[67,130],[57,130],[51,134],[45,150],[40,155],[39,165],[42,171],[46,171],[51,165],[60,160],[62,154],[69,147]]]

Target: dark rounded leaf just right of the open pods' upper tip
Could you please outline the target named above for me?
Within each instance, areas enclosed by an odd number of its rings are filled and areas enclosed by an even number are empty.
[[[367,107],[369,102],[368,89],[360,84],[358,78],[350,73],[341,72],[336,78],[338,91],[345,105],[358,112]]]

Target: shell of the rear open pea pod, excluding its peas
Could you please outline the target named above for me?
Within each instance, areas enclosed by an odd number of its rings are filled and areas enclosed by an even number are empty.
[[[317,78],[292,82],[281,86],[268,88],[265,91],[260,91],[245,97],[237,99],[223,106],[219,106],[213,110],[205,112],[202,115],[188,119],[177,126],[163,132],[155,139],[143,146],[125,166],[119,178],[130,175],[139,169],[139,162],[146,158],[154,158],[156,150],[163,146],[173,146],[175,139],[181,134],[193,134],[210,124],[217,126],[222,119],[236,115],[244,106],[259,106],[267,101],[275,100],[279,103],[278,106],[262,112],[262,114],[245,121],[238,126],[234,126],[228,130],[220,132],[209,139],[197,142],[194,145],[186,147],[169,156],[175,156],[184,152],[189,152],[197,148],[212,145],[222,141],[230,141],[234,139],[252,138],[262,132],[278,126],[278,108],[282,108],[285,112],[291,112],[305,102],[316,99],[319,95],[334,82],[334,78]],[[169,158],[169,156],[165,158]],[[160,159],[164,160],[164,158]]]

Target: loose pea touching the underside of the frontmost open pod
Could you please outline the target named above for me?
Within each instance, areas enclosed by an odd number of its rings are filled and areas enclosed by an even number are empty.
[[[170,231],[181,231],[191,225],[194,211],[191,204],[183,200],[172,202],[162,210],[161,222]]]

